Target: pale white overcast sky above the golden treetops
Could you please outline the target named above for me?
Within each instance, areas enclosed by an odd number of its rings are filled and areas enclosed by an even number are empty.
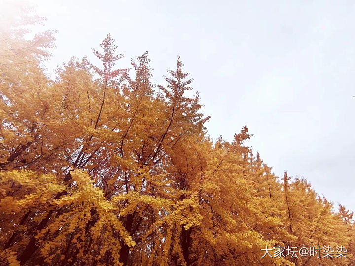
[[[95,62],[107,33],[122,66],[148,51],[159,83],[180,55],[213,139],[248,125],[277,176],[303,176],[355,211],[354,1],[30,2],[58,30],[49,72],[71,56]]]

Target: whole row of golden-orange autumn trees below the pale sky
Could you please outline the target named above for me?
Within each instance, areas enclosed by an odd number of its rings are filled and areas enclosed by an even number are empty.
[[[352,213],[278,179],[247,127],[212,141],[179,57],[155,86],[147,53],[115,67],[108,34],[102,66],[72,58],[51,79],[53,32],[26,26],[0,25],[1,265],[355,265]],[[277,245],[347,258],[261,258]]]

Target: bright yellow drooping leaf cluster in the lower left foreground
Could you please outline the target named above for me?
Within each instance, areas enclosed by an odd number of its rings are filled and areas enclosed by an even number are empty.
[[[48,198],[43,197],[45,196],[43,194],[33,193],[25,195],[24,199],[12,199],[10,201],[15,203],[15,205],[28,208],[31,203],[33,206],[35,201],[38,200],[38,196],[41,196],[40,200],[45,206],[58,206],[61,209],[69,207],[62,214],[58,212],[53,222],[36,235],[37,241],[42,245],[41,254],[45,257],[45,261],[49,263],[56,256],[64,256],[64,251],[61,247],[70,235],[72,235],[72,243],[76,243],[77,256],[82,257],[82,259],[88,255],[84,254],[86,245],[89,241],[94,241],[94,244],[97,241],[100,242],[103,230],[106,232],[105,238],[108,242],[101,248],[100,254],[105,253],[107,249],[112,249],[112,252],[115,251],[116,254],[119,254],[120,244],[116,237],[113,236],[115,232],[119,233],[120,238],[126,245],[133,247],[135,242],[115,215],[116,208],[104,198],[102,190],[93,186],[93,181],[85,172],[75,170],[71,175],[74,186],[67,187],[67,195],[59,199],[53,200],[52,192],[51,197]],[[21,176],[24,179],[22,183],[33,183],[31,180],[26,180],[26,178],[30,179],[33,176],[33,173],[24,171]],[[16,180],[18,179],[20,178]],[[42,177],[42,179],[46,178]],[[55,181],[52,180],[52,182],[54,183]],[[38,193],[41,193],[41,191],[47,190],[48,186],[46,186],[46,183],[42,183],[38,184],[36,189]],[[93,221],[95,221],[94,226],[88,231],[87,226]],[[119,265],[118,262],[116,265]]]

